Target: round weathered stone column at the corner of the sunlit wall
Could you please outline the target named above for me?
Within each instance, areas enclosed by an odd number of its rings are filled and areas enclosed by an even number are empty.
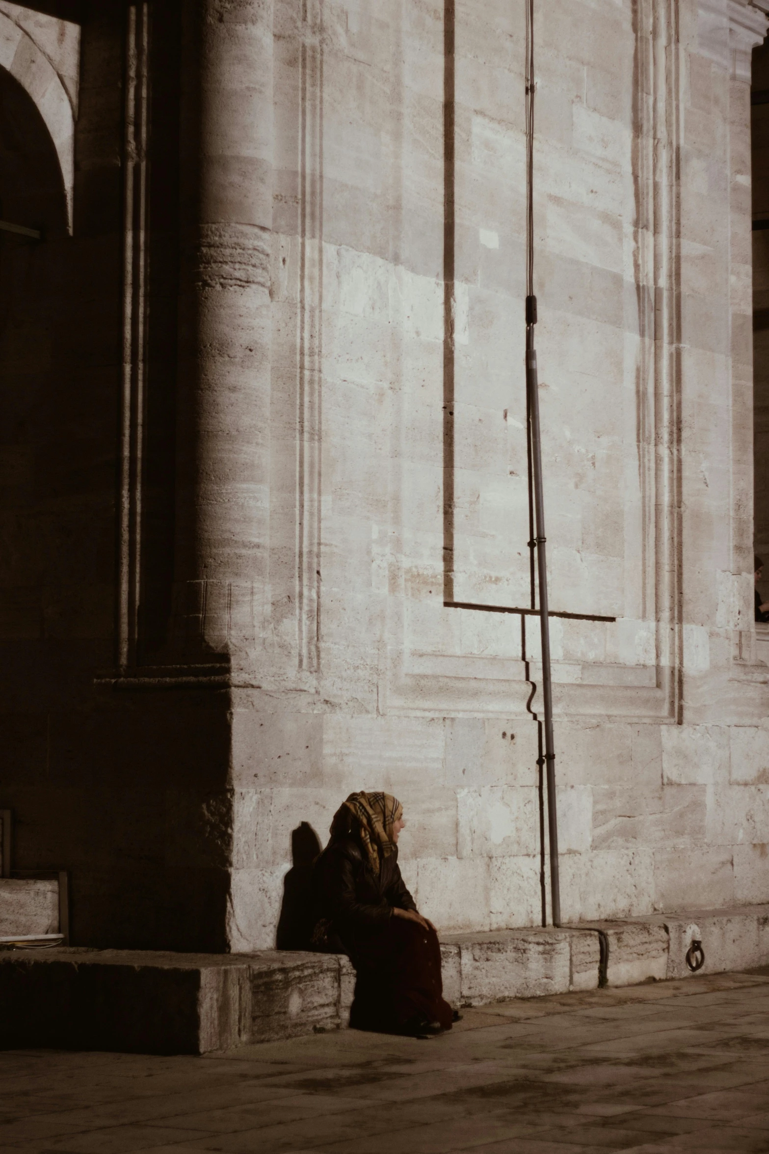
[[[174,652],[252,647],[266,578],[272,0],[186,0]]]

